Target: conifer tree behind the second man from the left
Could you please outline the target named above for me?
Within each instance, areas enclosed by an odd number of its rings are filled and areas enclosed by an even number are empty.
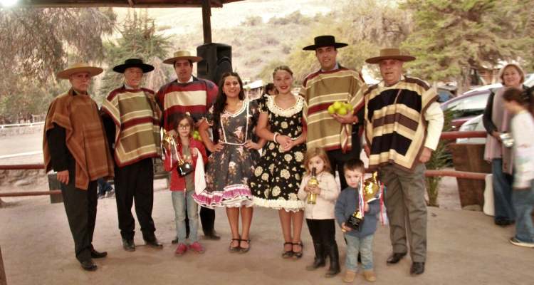
[[[162,58],[167,56],[167,50],[171,46],[169,38],[156,33],[154,19],[148,17],[146,9],[140,14],[135,10],[128,11],[119,31],[121,37],[116,43],[110,41],[105,45],[105,63],[111,67],[124,63],[127,58],[142,58],[146,63],[155,66],[155,70],[144,77],[143,86],[153,90],[162,86],[167,80],[167,74],[162,68]],[[100,93],[102,96],[107,95],[123,81],[122,74],[108,68],[100,86]],[[100,101],[97,100],[99,103]]]

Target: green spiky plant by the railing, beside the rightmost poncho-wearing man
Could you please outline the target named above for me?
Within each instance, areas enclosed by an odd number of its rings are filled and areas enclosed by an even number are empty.
[[[444,124],[443,131],[449,132],[452,130],[451,121],[454,118],[455,110],[444,110]],[[427,170],[440,170],[450,166],[451,153],[447,150],[447,140],[439,140],[436,150],[432,152],[430,160],[426,162]],[[426,194],[429,196],[428,205],[431,207],[439,207],[438,194],[439,182],[443,177],[426,177]]]

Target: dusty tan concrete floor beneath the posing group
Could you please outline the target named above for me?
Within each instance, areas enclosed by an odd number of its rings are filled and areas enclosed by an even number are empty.
[[[98,271],[80,269],[63,204],[21,204],[0,209],[0,247],[7,284],[342,284],[341,276],[323,278],[326,269],[305,271],[313,260],[310,234],[304,225],[304,257],[281,258],[283,239],[276,211],[256,208],[251,250],[228,252],[229,226],[224,209],[217,209],[221,241],[202,241],[205,254],[174,257],[174,213],[170,192],[155,192],[154,219],[162,250],[138,246],[122,249],[115,199],[100,199],[93,244],[108,257],[95,260]],[[138,225],[136,226],[139,227]],[[481,212],[429,208],[428,259],[422,276],[409,276],[409,258],[386,266],[389,229],[375,235],[376,284],[534,284],[534,250],[508,242],[513,227],[493,225]],[[135,242],[142,244],[140,233]],[[340,259],[345,242],[337,229]],[[342,268],[344,271],[344,268]],[[361,275],[355,284],[366,283]]]

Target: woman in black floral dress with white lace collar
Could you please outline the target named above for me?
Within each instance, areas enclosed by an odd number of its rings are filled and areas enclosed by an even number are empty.
[[[254,204],[278,209],[285,240],[282,257],[300,258],[304,202],[298,199],[297,193],[305,173],[304,100],[291,93],[293,72],[287,66],[276,68],[273,80],[278,95],[267,97],[260,106],[256,134],[268,143],[254,170],[251,189]]]

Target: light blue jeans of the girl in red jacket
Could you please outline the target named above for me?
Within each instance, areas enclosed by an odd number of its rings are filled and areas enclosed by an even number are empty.
[[[185,211],[189,218],[189,243],[198,242],[199,207],[193,199],[194,190],[187,192],[172,191],[172,206],[174,207],[174,222],[176,222],[176,236],[179,243],[185,243]]]

